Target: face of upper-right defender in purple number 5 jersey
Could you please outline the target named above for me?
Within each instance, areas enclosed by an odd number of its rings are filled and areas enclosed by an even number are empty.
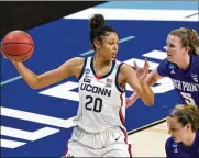
[[[181,38],[175,35],[168,35],[166,43],[167,60],[172,63],[179,61],[186,52],[186,47],[181,45]]]

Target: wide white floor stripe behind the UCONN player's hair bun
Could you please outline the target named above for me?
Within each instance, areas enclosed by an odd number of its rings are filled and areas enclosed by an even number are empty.
[[[186,19],[187,15],[196,13],[197,10],[146,10],[146,9],[99,9],[91,8],[64,16],[63,19],[88,20],[95,13],[103,14],[106,20],[147,20],[147,21],[194,21],[198,16]]]

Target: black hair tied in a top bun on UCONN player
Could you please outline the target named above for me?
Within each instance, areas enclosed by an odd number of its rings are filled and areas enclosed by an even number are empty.
[[[93,45],[95,40],[101,42],[103,36],[109,35],[110,32],[115,32],[113,27],[106,25],[106,20],[102,14],[93,14],[90,19],[89,25],[90,25],[90,42],[92,44],[93,49],[96,49]]]

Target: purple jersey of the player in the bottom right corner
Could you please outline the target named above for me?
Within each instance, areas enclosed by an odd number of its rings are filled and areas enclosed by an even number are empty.
[[[175,143],[169,137],[165,144],[167,158],[199,158],[199,132],[196,132],[195,142],[190,147],[186,147],[183,143]]]

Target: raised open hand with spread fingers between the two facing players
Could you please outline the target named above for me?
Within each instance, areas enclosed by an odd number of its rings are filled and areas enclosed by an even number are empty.
[[[148,61],[145,59],[143,68],[139,67],[136,61],[134,61],[134,66],[135,66],[136,76],[137,76],[140,82],[145,82],[147,74],[148,74],[148,68],[150,68]]]

